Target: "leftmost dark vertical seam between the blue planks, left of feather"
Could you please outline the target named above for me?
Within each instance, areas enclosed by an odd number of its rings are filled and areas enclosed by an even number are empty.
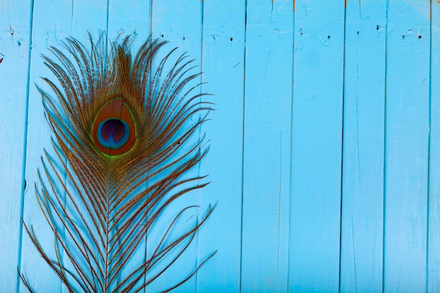
[[[34,21],[34,0],[30,3],[30,23],[29,23],[29,53],[27,57],[27,81],[26,81],[26,106],[25,106],[25,131],[24,131],[24,145],[23,145],[23,161],[22,161],[22,188],[20,199],[20,232],[18,240],[18,260],[17,268],[20,272],[21,268],[21,251],[23,238],[23,213],[25,211],[25,175],[26,175],[26,155],[27,155],[27,121],[29,118],[29,94],[30,94],[30,66],[32,53],[32,25]],[[20,274],[17,274],[17,293],[20,292]]]

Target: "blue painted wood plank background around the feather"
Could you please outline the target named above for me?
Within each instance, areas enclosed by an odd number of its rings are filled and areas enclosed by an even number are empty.
[[[196,242],[147,290],[440,292],[440,4],[426,0],[0,0],[0,292],[66,292],[23,233],[51,131],[40,58],[86,30],[150,32],[201,65],[217,111],[182,204]],[[189,264],[188,264],[189,263]]]

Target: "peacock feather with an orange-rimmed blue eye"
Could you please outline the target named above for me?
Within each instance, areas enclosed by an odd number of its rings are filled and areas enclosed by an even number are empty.
[[[49,48],[53,59],[43,56],[56,77],[44,78],[50,91],[37,86],[53,152],[41,157],[35,190],[55,253],[46,253],[32,226],[23,225],[69,292],[143,290],[183,254],[214,209],[174,235],[179,217],[193,207],[178,210],[150,245],[149,231],[165,209],[207,185],[198,183],[205,176],[188,178],[188,171],[207,154],[203,138],[191,138],[199,137],[211,108],[185,53],[168,65],[176,48],[157,58],[166,41],[149,37],[136,56],[132,41],[111,42],[105,34],[94,41],[89,33],[89,45],[70,37],[62,50]],[[145,239],[151,253],[127,266]],[[214,254],[163,292],[186,282]]]

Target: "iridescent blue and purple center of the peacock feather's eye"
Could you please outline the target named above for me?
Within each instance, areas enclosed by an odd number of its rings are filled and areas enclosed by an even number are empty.
[[[117,118],[106,119],[98,125],[98,141],[105,148],[121,148],[127,143],[130,129],[127,122]]]

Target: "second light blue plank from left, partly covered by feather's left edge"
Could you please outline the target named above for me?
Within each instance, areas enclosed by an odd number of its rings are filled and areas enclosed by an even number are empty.
[[[56,13],[53,13],[53,11],[56,11]],[[34,4],[33,13],[30,102],[25,170],[29,188],[25,193],[23,219],[28,226],[33,226],[40,244],[46,252],[54,256],[54,236],[44,219],[35,197],[34,184],[38,181],[37,168],[41,167],[40,157],[43,155],[43,148],[51,150],[51,131],[44,118],[41,95],[34,84],[37,83],[43,86],[44,89],[47,89],[39,77],[47,77],[50,74],[44,66],[40,54],[47,54],[46,48],[48,46],[57,45],[58,40],[70,34],[72,2],[57,1],[57,3],[52,3],[52,1],[39,1]],[[55,273],[51,271],[46,262],[41,258],[24,230],[22,239],[22,273],[25,274],[32,288],[37,292],[60,292],[60,280],[58,280]],[[20,292],[28,291],[24,285],[21,285]]]

